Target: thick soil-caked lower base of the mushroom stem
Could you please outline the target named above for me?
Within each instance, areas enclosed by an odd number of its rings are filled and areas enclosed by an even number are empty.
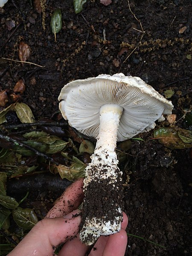
[[[122,172],[114,165],[87,166],[80,240],[94,244],[99,236],[119,232],[122,222]]]

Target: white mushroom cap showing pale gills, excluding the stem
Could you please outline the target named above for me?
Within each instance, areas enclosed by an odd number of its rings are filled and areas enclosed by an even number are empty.
[[[117,141],[134,137],[145,129],[154,127],[162,114],[171,114],[172,102],[139,77],[122,73],[99,75],[66,84],[58,97],[59,109],[64,119],[82,134],[97,137],[99,134],[99,109],[104,104],[120,105],[122,113]],[[106,124],[107,125],[107,124]]]

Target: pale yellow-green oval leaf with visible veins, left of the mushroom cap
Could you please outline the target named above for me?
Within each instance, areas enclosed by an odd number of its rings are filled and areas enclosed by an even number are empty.
[[[20,122],[22,123],[35,122],[35,118],[33,116],[31,109],[25,103],[17,102],[15,109],[16,109],[17,116],[20,119]]]

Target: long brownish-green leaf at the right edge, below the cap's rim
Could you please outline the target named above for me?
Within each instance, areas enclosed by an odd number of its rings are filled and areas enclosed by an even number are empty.
[[[182,130],[182,129],[181,129]],[[159,142],[164,144],[168,148],[182,149],[191,148],[192,143],[184,143],[178,135],[178,131],[174,128],[160,128],[154,131],[154,138],[159,138]]]

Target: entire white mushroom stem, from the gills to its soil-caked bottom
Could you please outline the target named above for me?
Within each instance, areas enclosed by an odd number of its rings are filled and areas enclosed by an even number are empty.
[[[84,179],[84,205],[80,239],[93,244],[99,236],[119,232],[122,222],[122,172],[115,152],[123,108],[106,104],[100,108],[99,135]]]

